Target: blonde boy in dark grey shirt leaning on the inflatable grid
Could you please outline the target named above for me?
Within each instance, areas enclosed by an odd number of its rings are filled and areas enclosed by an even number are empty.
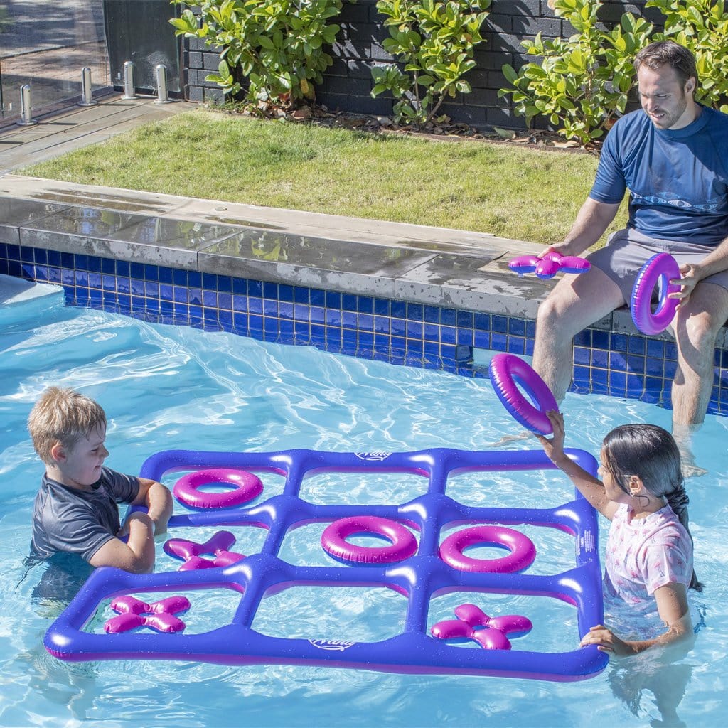
[[[103,467],[103,408],[73,389],[50,387],[28,416],[28,430],[46,465],[33,507],[33,552],[41,558],[76,553],[91,566],[153,571],[154,536],[167,530],[172,496],[155,480]],[[147,513],[135,511],[121,528],[117,503],[143,505]]]

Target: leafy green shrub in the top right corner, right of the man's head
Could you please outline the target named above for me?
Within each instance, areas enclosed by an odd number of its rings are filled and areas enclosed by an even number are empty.
[[[665,32],[654,40],[673,39],[695,55],[700,83],[695,98],[728,113],[728,15],[724,0],[648,0],[665,16]]]

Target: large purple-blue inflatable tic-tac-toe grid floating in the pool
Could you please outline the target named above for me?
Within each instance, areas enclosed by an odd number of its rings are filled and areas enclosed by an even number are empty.
[[[590,454],[570,456],[596,474]],[[232,453],[169,450],[151,456],[141,475],[162,480],[169,472],[208,468],[276,472],[285,478],[282,494],[250,507],[175,515],[170,537],[179,526],[256,525],[266,529],[259,553],[230,566],[127,574],[101,568],[91,574],[68,608],[51,625],[44,644],[61,660],[161,659],[220,664],[306,664],[382,670],[395,673],[460,673],[554,681],[590,678],[609,658],[595,646],[571,652],[517,649],[463,649],[430,636],[430,600],[443,593],[519,594],[555,598],[577,609],[579,638],[603,621],[601,567],[596,512],[579,494],[555,508],[497,508],[462,505],[446,494],[448,476],[472,471],[553,470],[542,451],[463,451],[433,448],[408,453],[331,453],[288,450]],[[314,505],[301,499],[304,478],[316,472],[409,472],[427,478],[422,495],[400,505]],[[262,497],[264,497],[263,494]],[[418,550],[398,563],[359,566],[294,566],[278,557],[285,534],[304,523],[332,522],[352,515],[375,515],[404,523],[417,534]],[[443,528],[455,523],[531,524],[574,537],[574,567],[561,574],[470,573],[452,569],[438,557]],[[403,631],[373,642],[266,636],[250,625],[266,595],[295,585],[390,587],[407,599]],[[108,598],[135,593],[184,594],[205,589],[233,590],[240,603],[232,622],[199,634],[100,634],[84,631],[98,606]],[[471,595],[470,601],[473,597]],[[144,601],[147,601],[146,599]]]

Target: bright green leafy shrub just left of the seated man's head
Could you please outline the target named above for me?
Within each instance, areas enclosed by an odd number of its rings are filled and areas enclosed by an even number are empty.
[[[606,30],[597,17],[602,5],[600,0],[552,0],[556,15],[577,33],[553,40],[539,33],[534,41],[521,41],[541,62],[526,63],[518,72],[503,66],[513,88],[498,95],[513,98],[515,114],[525,116],[529,127],[534,116],[545,116],[566,139],[585,146],[624,113],[634,82],[633,59],[649,43],[652,23],[625,12],[612,31]]]

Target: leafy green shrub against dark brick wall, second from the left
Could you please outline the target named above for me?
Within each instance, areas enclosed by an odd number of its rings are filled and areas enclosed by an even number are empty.
[[[390,91],[395,121],[427,124],[443,101],[470,93],[463,78],[475,67],[475,46],[491,0],[379,0],[389,38],[382,46],[400,63],[371,69],[372,96]],[[403,64],[403,68],[402,68]]]

